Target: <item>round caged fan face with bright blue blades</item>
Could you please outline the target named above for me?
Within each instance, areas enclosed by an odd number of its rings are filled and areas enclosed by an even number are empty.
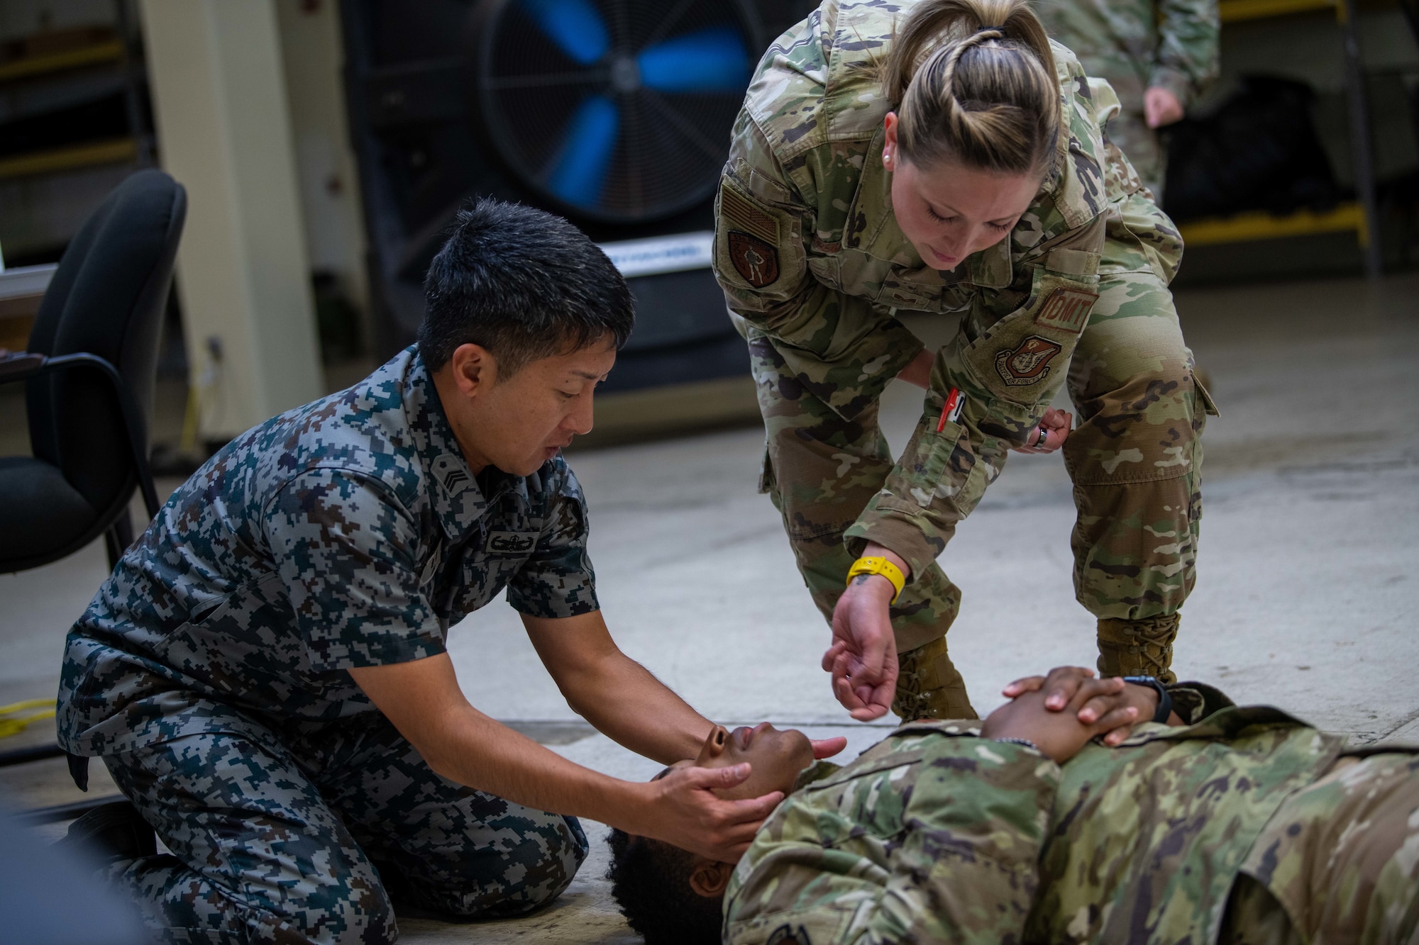
[[[509,167],[573,216],[701,203],[728,150],[755,27],[734,3],[488,0],[477,106]]]

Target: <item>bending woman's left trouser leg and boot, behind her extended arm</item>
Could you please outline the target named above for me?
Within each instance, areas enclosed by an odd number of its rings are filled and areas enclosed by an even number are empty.
[[[783,515],[803,583],[823,617],[832,620],[853,563],[843,532],[887,481],[894,458],[877,426],[877,404],[843,420],[803,387],[762,335],[749,332],[749,353],[768,434],[761,491]],[[937,702],[929,714],[941,718],[975,718],[965,681],[945,646],[959,607],[961,592],[932,565],[907,585],[891,609],[902,667],[920,668],[898,681],[898,695],[905,692],[917,705],[927,694],[927,701]],[[921,653],[914,657],[917,650]],[[898,704],[893,709],[898,711]]]

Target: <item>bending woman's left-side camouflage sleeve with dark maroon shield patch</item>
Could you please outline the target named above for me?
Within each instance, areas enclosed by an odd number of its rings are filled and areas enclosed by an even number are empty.
[[[715,197],[715,278],[729,309],[773,342],[805,387],[851,419],[922,343],[890,311],[815,278],[815,265],[836,260],[809,251],[810,206],[758,123],[741,112]]]

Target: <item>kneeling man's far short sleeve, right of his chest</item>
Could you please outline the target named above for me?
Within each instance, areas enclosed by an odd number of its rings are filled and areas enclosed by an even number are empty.
[[[508,582],[508,603],[529,617],[575,617],[600,609],[586,553],[586,499],[572,471],[562,468],[565,478],[549,482],[553,495],[536,548]]]

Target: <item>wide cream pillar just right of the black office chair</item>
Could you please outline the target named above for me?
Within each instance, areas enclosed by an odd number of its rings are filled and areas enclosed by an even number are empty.
[[[324,386],[275,7],[140,7],[159,162],[187,189],[177,287],[200,429],[227,438]]]

